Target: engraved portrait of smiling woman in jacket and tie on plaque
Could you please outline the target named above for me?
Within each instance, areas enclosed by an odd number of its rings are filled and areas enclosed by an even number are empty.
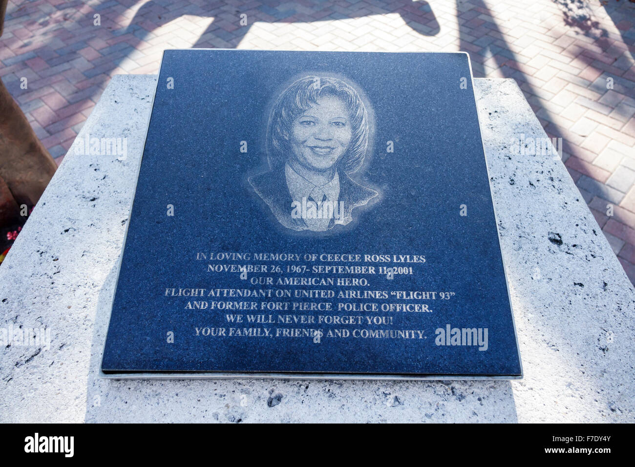
[[[342,79],[305,76],[277,97],[267,125],[269,170],[250,177],[280,224],[328,231],[377,192],[349,177],[364,161],[368,113]]]

